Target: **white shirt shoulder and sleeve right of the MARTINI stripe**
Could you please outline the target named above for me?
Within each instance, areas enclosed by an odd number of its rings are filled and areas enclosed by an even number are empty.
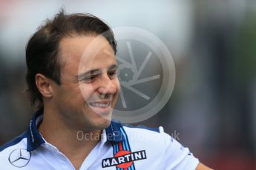
[[[123,126],[133,151],[146,155],[148,163],[163,165],[165,169],[195,169],[199,160],[188,148],[165,133],[163,127]]]

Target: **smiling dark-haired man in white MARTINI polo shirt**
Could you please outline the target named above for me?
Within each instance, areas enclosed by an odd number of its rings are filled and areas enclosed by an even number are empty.
[[[47,20],[26,49],[38,111],[27,132],[0,148],[1,169],[209,169],[163,128],[111,120],[119,94],[116,41],[89,14]]]

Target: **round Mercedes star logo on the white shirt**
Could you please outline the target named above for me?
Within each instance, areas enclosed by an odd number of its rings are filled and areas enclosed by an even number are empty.
[[[31,154],[27,152],[26,149],[15,149],[10,153],[9,162],[13,166],[22,168],[27,166],[27,163],[30,161]]]

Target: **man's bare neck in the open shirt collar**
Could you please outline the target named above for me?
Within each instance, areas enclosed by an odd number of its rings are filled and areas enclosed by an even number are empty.
[[[82,165],[83,160],[90,154],[91,150],[99,143],[102,130],[88,131],[84,134],[98,135],[98,140],[79,139],[79,130],[68,127],[62,122],[61,118],[56,118],[54,113],[45,113],[42,123],[39,126],[39,132],[47,141],[47,143],[56,146],[59,152],[65,154],[66,157],[73,163],[76,169]],[[83,134],[83,135],[84,135]]]

